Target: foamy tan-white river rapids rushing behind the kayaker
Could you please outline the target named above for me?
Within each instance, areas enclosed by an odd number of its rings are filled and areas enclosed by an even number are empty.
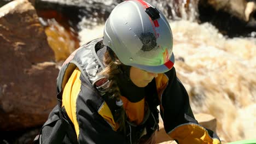
[[[256,38],[227,38],[194,17],[170,20],[174,67],[194,113],[216,117],[217,134],[225,142],[256,139]],[[84,22],[80,44],[102,37],[103,24],[85,28]]]

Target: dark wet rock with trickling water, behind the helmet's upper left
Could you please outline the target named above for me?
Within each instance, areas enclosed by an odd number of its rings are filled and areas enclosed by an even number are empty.
[[[63,16],[67,17],[71,27],[78,31],[80,27],[77,25],[83,19],[83,27],[93,27],[100,23],[104,23],[115,5],[122,2],[114,1],[66,1],[66,0],[36,0],[35,8],[37,11],[55,10]]]

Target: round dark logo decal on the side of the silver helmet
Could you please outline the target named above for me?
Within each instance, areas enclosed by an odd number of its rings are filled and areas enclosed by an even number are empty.
[[[143,33],[139,38],[142,41],[142,51],[150,51],[156,46],[156,38],[153,33]]]

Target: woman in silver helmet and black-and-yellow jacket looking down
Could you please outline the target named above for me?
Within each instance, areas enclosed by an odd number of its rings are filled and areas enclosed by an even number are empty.
[[[173,140],[220,143],[197,124],[173,64],[165,16],[141,0],[118,4],[103,38],[83,45],[63,64],[59,109],[44,124],[41,143],[155,143],[158,105]]]

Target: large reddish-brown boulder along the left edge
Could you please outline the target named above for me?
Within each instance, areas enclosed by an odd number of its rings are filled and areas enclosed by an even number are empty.
[[[54,52],[27,0],[0,8],[0,129],[42,125],[56,105]]]

